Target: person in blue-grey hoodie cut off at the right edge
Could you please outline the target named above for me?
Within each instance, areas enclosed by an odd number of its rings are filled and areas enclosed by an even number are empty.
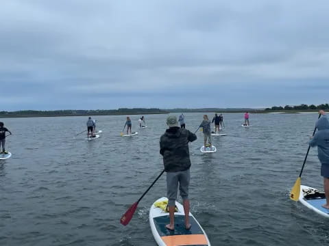
[[[319,111],[322,115],[317,120],[317,133],[311,137],[309,145],[317,146],[317,156],[321,163],[321,176],[324,177],[324,193],[326,193],[326,204],[322,206],[329,209],[329,121],[323,110]]]

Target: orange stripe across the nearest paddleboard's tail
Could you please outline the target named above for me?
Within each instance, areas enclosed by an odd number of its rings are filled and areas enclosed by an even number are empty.
[[[161,236],[161,238],[167,246],[208,245],[204,234]]]

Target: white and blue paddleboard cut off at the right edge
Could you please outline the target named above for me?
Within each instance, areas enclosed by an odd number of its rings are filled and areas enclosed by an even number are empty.
[[[322,206],[326,204],[326,197],[323,192],[306,185],[301,185],[300,202],[307,208],[315,211],[315,213],[329,218],[329,209]]]

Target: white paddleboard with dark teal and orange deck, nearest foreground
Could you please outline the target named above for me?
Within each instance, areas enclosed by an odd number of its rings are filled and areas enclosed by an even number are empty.
[[[167,197],[162,197],[156,200],[156,202],[165,200],[167,200]],[[156,243],[158,243],[159,246],[210,246],[206,232],[191,213],[189,213],[189,217],[192,226],[190,230],[186,230],[184,208],[182,204],[177,201],[176,206],[178,212],[175,212],[175,230],[173,231],[166,228],[166,225],[169,224],[169,213],[164,212],[161,208],[157,208],[154,204],[152,204],[149,209],[149,226],[151,226],[151,231]]]

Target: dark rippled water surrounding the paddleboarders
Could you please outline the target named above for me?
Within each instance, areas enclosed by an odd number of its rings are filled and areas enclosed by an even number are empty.
[[[211,115],[212,116],[212,115]],[[0,161],[0,245],[156,245],[148,212],[166,195],[165,175],[130,224],[119,219],[160,174],[159,137],[167,115],[146,115],[146,129],[120,137],[124,116],[97,116],[101,137],[86,141],[85,117],[1,119],[13,135]],[[191,210],[212,245],[326,245],[329,220],[289,200],[317,115],[226,113],[226,137],[202,154],[190,144]],[[136,130],[138,116],[132,116]],[[186,113],[195,131],[201,113]],[[321,188],[316,149],[302,183]]]

